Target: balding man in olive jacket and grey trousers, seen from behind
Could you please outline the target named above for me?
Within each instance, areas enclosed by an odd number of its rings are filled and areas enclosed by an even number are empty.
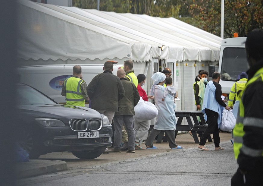
[[[112,149],[110,152],[121,153],[122,126],[124,123],[128,133],[128,150],[126,152],[135,153],[133,115],[135,115],[134,106],[136,106],[139,102],[140,96],[136,86],[124,78],[125,71],[123,69],[119,69],[117,71],[117,77],[121,79],[121,84],[125,90],[125,96],[119,101],[119,112],[115,112],[114,115],[114,149]]]

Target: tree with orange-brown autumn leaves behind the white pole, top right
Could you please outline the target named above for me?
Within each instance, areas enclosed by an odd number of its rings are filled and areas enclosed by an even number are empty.
[[[193,0],[190,13],[201,21],[199,28],[220,36],[221,0]],[[263,27],[263,0],[227,0],[224,2],[224,38],[240,37]]]

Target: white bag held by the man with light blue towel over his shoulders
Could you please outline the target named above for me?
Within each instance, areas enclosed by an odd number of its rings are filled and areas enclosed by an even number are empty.
[[[236,125],[236,118],[231,110],[224,109],[222,113],[222,123],[220,129],[222,131],[231,131]]]

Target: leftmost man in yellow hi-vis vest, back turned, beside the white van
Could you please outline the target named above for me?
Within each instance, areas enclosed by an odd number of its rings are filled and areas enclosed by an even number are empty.
[[[67,105],[85,107],[85,99],[88,100],[87,84],[80,79],[81,66],[73,67],[73,77],[67,78],[62,84],[61,95],[66,96]]]

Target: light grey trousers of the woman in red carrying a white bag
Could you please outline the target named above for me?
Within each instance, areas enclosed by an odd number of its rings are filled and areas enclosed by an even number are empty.
[[[142,138],[148,132],[150,128],[150,121],[137,122],[133,117],[133,125],[135,132],[135,143],[142,144]]]

